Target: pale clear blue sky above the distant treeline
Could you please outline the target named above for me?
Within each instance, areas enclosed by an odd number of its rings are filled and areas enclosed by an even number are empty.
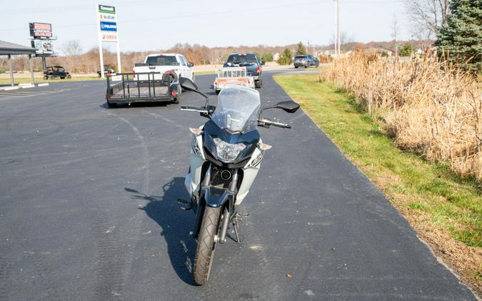
[[[167,49],[176,43],[206,46],[278,46],[303,41],[330,44],[333,0],[4,0],[0,40],[29,45],[29,22],[51,23],[55,47],[77,39],[85,50],[97,46],[96,3],[116,6],[121,51]],[[401,0],[341,0],[341,31],[356,41],[391,40],[391,23],[401,24],[399,39],[410,39]],[[114,49],[104,43],[104,49]]]

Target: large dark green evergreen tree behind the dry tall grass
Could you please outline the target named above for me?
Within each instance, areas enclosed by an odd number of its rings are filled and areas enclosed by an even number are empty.
[[[481,71],[482,0],[453,0],[451,11],[446,26],[438,34],[436,46],[440,51],[449,51],[448,59],[456,65]]]

